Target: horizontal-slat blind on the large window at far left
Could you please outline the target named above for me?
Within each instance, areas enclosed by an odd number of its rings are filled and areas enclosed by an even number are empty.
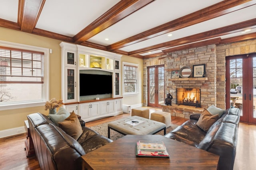
[[[44,53],[0,46],[0,83],[44,83]]]

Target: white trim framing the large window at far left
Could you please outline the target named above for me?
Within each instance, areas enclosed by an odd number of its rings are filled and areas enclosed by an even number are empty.
[[[12,43],[8,41],[1,41],[0,46],[10,47],[10,48],[18,48],[18,49],[26,49],[30,51],[40,51],[44,53],[44,94],[43,101],[41,102],[27,102],[27,103],[20,103],[20,104],[6,104],[0,106],[1,110],[10,110],[10,109],[20,109],[26,107],[37,107],[37,106],[44,106],[45,102],[49,98],[49,49],[43,47],[36,47],[31,45],[24,45],[19,43]]]

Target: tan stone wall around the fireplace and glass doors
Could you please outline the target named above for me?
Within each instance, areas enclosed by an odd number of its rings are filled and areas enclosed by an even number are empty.
[[[147,96],[147,67],[164,65],[165,93],[173,95],[172,103],[176,101],[176,88],[200,88],[201,106],[215,105],[226,109],[226,56],[256,53],[256,39],[228,43],[224,45],[207,45],[192,49],[175,51],[161,57],[144,59],[144,90],[143,104],[148,106]],[[193,65],[206,64],[206,78],[208,80],[172,81],[171,71],[179,70],[183,66],[193,68]]]

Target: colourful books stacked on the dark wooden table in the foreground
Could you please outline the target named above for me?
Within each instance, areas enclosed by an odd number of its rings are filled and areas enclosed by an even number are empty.
[[[138,141],[136,143],[136,155],[169,158],[169,154],[162,141]]]

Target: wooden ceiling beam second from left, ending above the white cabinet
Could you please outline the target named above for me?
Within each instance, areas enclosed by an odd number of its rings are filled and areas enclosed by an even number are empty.
[[[74,42],[80,44],[88,40],[153,1],[154,0],[121,0],[106,13],[77,33],[73,37]]]

